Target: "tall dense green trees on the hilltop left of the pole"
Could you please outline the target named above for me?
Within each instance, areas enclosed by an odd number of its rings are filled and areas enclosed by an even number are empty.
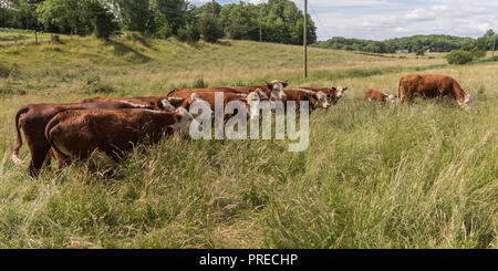
[[[102,39],[122,31],[195,42],[260,39],[302,44],[304,15],[289,0],[252,4],[240,1],[196,7],[187,0],[0,0],[0,28],[64,34],[95,34]],[[317,28],[308,15],[308,42]]]

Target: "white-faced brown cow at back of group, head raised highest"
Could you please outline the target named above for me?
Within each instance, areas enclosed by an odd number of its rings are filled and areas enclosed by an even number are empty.
[[[253,86],[217,86],[209,88],[174,88],[168,93],[168,97],[174,97],[180,95],[189,95],[191,93],[203,93],[203,92],[224,92],[224,93],[235,93],[235,94],[249,94],[256,90],[262,91],[272,101],[284,101],[286,93],[283,88],[288,85],[287,82],[273,80],[266,85],[253,85]]]

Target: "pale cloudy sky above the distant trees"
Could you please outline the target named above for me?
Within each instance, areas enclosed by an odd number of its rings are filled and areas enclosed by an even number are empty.
[[[190,0],[194,4],[208,1]],[[303,0],[292,1],[303,9]],[[319,40],[332,37],[385,40],[414,34],[478,38],[488,29],[498,32],[498,0],[308,0],[308,13],[313,18]]]

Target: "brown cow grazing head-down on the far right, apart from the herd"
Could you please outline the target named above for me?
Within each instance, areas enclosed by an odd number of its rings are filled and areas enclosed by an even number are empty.
[[[467,107],[473,98],[465,94],[456,80],[438,74],[407,74],[400,79],[398,96],[402,102],[412,102],[414,94],[423,97],[450,96],[456,98],[460,106]]]

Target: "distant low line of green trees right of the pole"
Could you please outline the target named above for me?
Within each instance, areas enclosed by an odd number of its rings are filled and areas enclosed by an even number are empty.
[[[495,32],[492,30],[488,30],[484,37],[477,40],[473,38],[459,38],[442,34],[413,35],[388,39],[384,41],[334,37],[328,41],[319,41],[314,44],[314,46],[371,53],[395,53],[400,50],[406,50],[406,52],[423,54],[426,51],[450,52],[453,50],[460,49],[477,52],[492,50],[494,37]]]

